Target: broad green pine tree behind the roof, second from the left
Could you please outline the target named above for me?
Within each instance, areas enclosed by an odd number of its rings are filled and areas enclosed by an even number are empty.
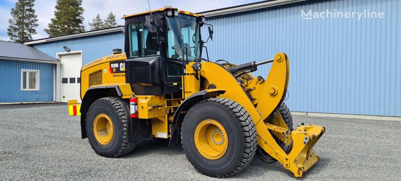
[[[44,30],[49,37],[85,31],[82,0],[56,0],[55,8],[55,17],[51,18],[49,28]]]

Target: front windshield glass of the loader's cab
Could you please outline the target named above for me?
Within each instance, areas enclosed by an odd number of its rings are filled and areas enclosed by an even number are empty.
[[[167,57],[186,60],[188,55],[188,61],[199,57],[199,23],[196,19],[194,16],[181,13],[178,16],[167,17]]]

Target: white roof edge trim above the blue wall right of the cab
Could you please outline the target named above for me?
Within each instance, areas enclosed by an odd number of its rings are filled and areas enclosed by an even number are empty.
[[[243,11],[249,11],[249,10],[254,10],[254,9],[267,8],[267,7],[271,7],[271,6],[279,6],[279,5],[283,5],[283,4],[290,4],[290,3],[294,3],[294,2],[300,2],[300,1],[306,1],[306,0],[275,0],[275,1],[269,1],[269,2],[262,2],[262,3],[258,3],[258,4],[251,4],[251,5],[247,5],[247,6],[240,6],[240,7],[236,7],[236,8],[229,8],[229,9],[224,9],[224,10],[205,12],[202,14],[205,17],[219,16],[219,15],[223,15],[223,14],[243,12]]]

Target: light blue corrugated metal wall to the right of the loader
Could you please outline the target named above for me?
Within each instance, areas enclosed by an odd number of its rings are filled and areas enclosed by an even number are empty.
[[[301,19],[317,12],[384,12],[385,18]],[[401,1],[308,0],[207,18],[211,60],[290,57],[293,111],[401,116]],[[208,35],[203,27],[202,35]],[[205,57],[205,56],[204,56]],[[267,76],[270,66],[255,74]]]

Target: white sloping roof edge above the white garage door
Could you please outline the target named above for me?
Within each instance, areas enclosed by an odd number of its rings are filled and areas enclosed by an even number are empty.
[[[48,39],[41,39],[41,40],[36,40],[36,41],[29,41],[25,42],[25,45],[31,45],[31,44],[37,44],[37,43],[45,43],[49,41],[57,41],[57,40],[63,40],[63,39],[71,39],[71,38],[77,38],[77,37],[85,37],[85,36],[90,36],[90,35],[98,35],[98,34],[103,34],[103,33],[111,33],[111,32],[116,32],[116,31],[123,31],[124,27],[115,27],[115,28],[109,28],[105,30],[98,30],[98,31],[90,31],[90,32],[84,32],[84,33],[77,33],[73,35],[65,35],[61,37],[54,37],[54,38],[48,38]]]

